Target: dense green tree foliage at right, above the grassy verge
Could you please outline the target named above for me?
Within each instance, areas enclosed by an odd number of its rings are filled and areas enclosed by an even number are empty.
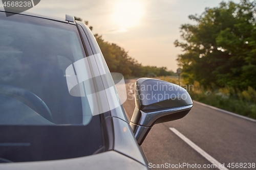
[[[185,42],[174,43],[184,51],[177,59],[183,77],[204,87],[256,88],[255,3],[222,2],[189,19],[196,25],[182,25]]]

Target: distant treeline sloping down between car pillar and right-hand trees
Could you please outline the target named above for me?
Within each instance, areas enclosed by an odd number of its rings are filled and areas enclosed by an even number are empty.
[[[82,21],[81,18],[75,17],[76,20]],[[84,21],[88,25],[88,21]],[[91,30],[93,27],[89,27]],[[115,43],[109,43],[102,39],[102,36],[94,35],[101,52],[109,66],[111,72],[119,72],[124,77],[158,77],[176,75],[173,71],[167,70],[166,67],[143,66],[137,60],[128,55],[128,53]]]

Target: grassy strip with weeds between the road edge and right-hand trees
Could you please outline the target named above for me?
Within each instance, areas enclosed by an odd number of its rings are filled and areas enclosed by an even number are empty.
[[[251,87],[243,91],[231,87],[209,90],[204,89],[196,81],[193,85],[188,85],[184,80],[179,82],[177,78],[158,79],[180,85],[195,101],[256,119],[256,90]]]

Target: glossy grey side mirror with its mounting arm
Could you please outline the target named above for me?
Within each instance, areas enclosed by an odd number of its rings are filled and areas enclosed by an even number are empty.
[[[138,144],[142,144],[153,125],[182,118],[192,106],[193,101],[184,88],[156,79],[138,79],[130,122]]]

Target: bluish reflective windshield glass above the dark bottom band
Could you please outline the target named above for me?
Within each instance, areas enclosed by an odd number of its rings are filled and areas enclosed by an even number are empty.
[[[24,18],[0,18],[0,125],[88,124],[88,100],[66,80],[86,57],[76,26]]]

